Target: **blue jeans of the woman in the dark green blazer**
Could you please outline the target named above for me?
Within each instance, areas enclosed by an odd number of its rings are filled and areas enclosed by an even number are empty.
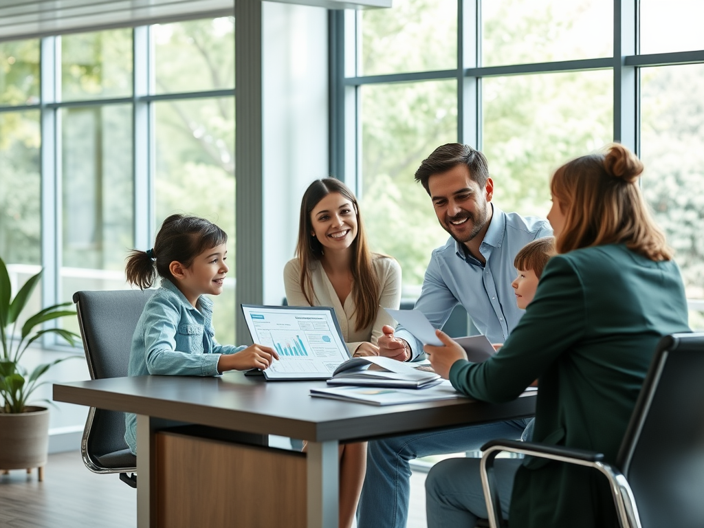
[[[477,519],[486,519],[486,501],[479,474],[480,458],[451,458],[432,467],[425,479],[425,512],[428,528],[471,528]],[[494,476],[503,518],[508,519],[508,505],[513,479],[523,460],[501,458],[494,461]]]

